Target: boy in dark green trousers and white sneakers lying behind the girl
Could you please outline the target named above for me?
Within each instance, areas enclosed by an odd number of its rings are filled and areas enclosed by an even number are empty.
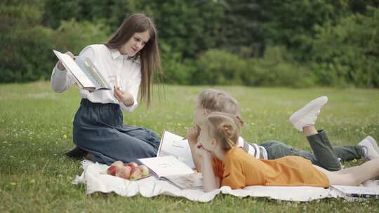
[[[379,147],[375,139],[367,136],[357,146],[331,146],[326,137],[324,130],[317,131],[314,128],[319,111],[327,102],[326,97],[314,99],[295,112],[290,121],[296,129],[304,132],[313,152],[293,149],[284,143],[278,141],[269,141],[262,144],[248,144],[243,138],[239,137],[237,146],[243,147],[244,151],[255,158],[260,159],[277,159],[284,156],[300,156],[311,160],[314,165],[323,167],[329,171],[337,171],[341,169],[340,160],[354,160],[366,158],[368,160],[379,158]],[[206,116],[211,112],[225,112],[237,116],[239,126],[243,126],[241,115],[239,114],[238,102],[227,92],[223,90],[207,89],[201,91],[197,107],[194,115],[194,123],[187,131],[187,139],[191,147],[192,157],[198,171],[201,171],[201,155],[195,153],[201,123],[206,120]],[[303,130],[304,127],[304,130]]]

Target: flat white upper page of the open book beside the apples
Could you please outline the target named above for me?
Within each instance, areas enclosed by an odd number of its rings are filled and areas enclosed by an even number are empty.
[[[157,177],[165,177],[177,174],[192,174],[194,170],[182,163],[174,156],[155,158],[140,158],[142,164],[147,166]]]

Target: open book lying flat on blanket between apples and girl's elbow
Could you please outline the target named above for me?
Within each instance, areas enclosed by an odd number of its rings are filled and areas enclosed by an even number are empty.
[[[146,165],[150,172],[158,179],[169,181],[181,189],[201,189],[201,173],[194,172],[192,168],[174,156],[140,158],[140,163]]]

